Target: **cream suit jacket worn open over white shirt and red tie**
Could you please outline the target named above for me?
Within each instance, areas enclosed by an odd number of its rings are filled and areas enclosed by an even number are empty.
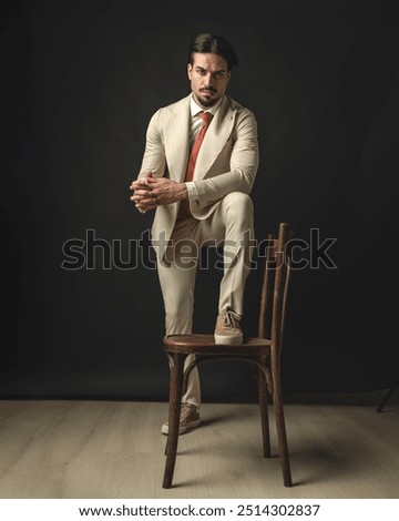
[[[151,118],[139,177],[151,170],[183,183],[190,153],[191,94],[158,109]],[[198,200],[190,202],[191,213],[207,218],[217,202],[229,192],[249,194],[258,168],[257,123],[254,114],[224,96],[205,134],[195,164],[194,183]],[[161,205],[152,225],[152,245],[160,259],[176,222],[180,203]]]

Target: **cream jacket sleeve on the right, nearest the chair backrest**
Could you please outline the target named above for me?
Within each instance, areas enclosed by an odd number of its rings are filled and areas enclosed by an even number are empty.
[[[232,142],[231,170],[219,173],[217,165],[215,165],[209,176],[194,182],[200,208],[219,201],[229,192],[249,194],[253,188],[259,164],[259,150],[257,123],[249,110],[245,109],[241,114],[237,114]]]

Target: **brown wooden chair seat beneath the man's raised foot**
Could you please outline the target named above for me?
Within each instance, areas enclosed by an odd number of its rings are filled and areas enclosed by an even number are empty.
[[[245,338],[243,344],[215,344],[209,334],[168,335],[163,339],[166,353],[197,355],[267,356],[270,340],[266,338]]]

